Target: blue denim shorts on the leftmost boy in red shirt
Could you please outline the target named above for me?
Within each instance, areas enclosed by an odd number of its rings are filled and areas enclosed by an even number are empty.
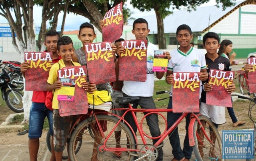
[[[50,134],[53,135],[52,111],[46,108],[44,103],[32,102],[29,115],[28,137],[30,139],[40,138],[44,126],[44,119],[48,118]]]

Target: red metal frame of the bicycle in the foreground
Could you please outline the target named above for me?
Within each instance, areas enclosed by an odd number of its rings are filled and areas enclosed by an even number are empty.
[[[154,146],[158,147],[162,141],[178,126],[178,124],[180,124],[180,122],[182,122],[182,120],[188,115],[188,113],[183,113],[182,116],[180,116],[180,118],[178,118],[178,120],[176,120],[176,122],[167,130],[167,120],[166,118],[159,112],[172,112],[172,109],[133,109],[132,106],[129,104],[128,108],[120,108],[120,109],[111,109],[112,111],[115,111],[115,110],[126,110],[124,112],[124,114],[120,117],[116,114],[113,114],[111,112],[94,112],[93,116],[95,117],[96,119],[96,124],[98,127],[100,127],[100,123],[98,122],[97,120],[97,115],[98,114],[110,114],[110,115],[113,115],[113,116],[116,116],[119,118],[119,121],[117,122],[117,124],[114,126],[114,128],[110,131],[110,133],[108,134],[108,136],[105,136],[104,135],[104,132],[102,131],[102,128],[99,128],[100,129],[100,134],[102,135],[103,138],[105,138],[105,141],[104,143],[102,144],[101,147],[99,147],[99,149],[101,149],[102,151],[140,151],[138,149],[127,149],[127,148],[108,148],[106,146],[106,141],[110,138],[110,135],[114,133],[114,130],[117,128],[118,124],[120,124],[120,122],[125,122],[128,127],[131,129],[132,131],[132,134],[134,135],[134,138],[135,138],[135,141],[136,141],[136,144],[138,144],[138,140],[136,138],[136,134],[134,133],[134,131],[132,130],[132,127],[130,126],[130,124],[128,124],[126,122],[126,120],[124,120],[124,116],[127,114],[127,112],[131,112],[132,113],[132,116],[134,118],[134,121],[135,121],[135,124],[136,124],[136,127],[138,128],[138,132],[140,134],[140,137],[142,139],[142,143],[144,145],[147,144],[146,142],[146,139],[144,138],[144,136],[150,138],[150,139],[158,139],[158,141],[154,144]],[[147,112],[147,114],[142,118],[140,124],[138,122],[138,119],[136,118],[136,112]],[[143,120],[146,118],[146,116],[150,115],[150,114],[158,114],[160,116],[162,116],[165,120],[165,123],[166,123],[166,128],[164,130],[164,132],[162,132],[161,135],[159,135],[158,137],[150,137],[148,135],[146,135],[144,132],[143,132],[143,128],[142,128],[142,122]],[[202,123],[200,122],[200,120],[198,119],[198,116],[200,114],[194,114],[192,113],[190,115],[190,124],[189,124],[189,129],[188,129],[188,134],[189,134],[189,140],[190,140],[190,146],[194,146],[195,143],[194,143],[194,134],[193,134],[193,126],[194,126],[194,123],[195,121],[197,120],[199,125],[200,125],[200,128],[202,130],[202,132],[204,133],[204,135],[206,136],[206,139],[208,139],[208,141],[212,142],[211,139],[206,135],[206,132],[202,126]],[[90,118],[87,118],[87,119],[90,119]],[[72,127],[73,128],[73,127]]]

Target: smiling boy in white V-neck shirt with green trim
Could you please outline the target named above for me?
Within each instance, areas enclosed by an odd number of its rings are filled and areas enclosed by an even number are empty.
[[[201,72],[199,79],[206,81],[208,74],[206,73],[206,64],[204,53],[190,45],[193,38],[192,31],[187,25],[180,25],[176,31],[176,39],[180,47],[170,54],[172,58],[168,62],[168,69],[166,74],[166,82],[172,84],[174,80],[173,72]],[[201,83],[201,82],[200,82]],[[201,88],[200,88],[201,93]],[[187,98],[186,98],[187,99]],[[199,99],[199,98],[198,98]],[[183,101],[183,100],[180,100]],[[187,100],[190,101],[190,100]],[[199,104],[198,104],[199,107]],[[181,107],[182,108],[182,107]],[[172,109],[172,97],[169,100],[168,109]],[[176,122],[182,113],[167,113],[168,128]],[[188,140],[188,125],[190,123],[190,114],[186,116],[186,136],[184,139],[183,150],[180,147],[180,138],[178,134],[178,127],[172,134],[169,134],[170,143],[172,145],[172,154],[174,158],[172,161],[189,161],[192,154],[192,147],[189,145]]]

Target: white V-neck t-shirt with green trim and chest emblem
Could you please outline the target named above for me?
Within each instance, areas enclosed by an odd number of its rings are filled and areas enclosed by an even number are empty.
[[[167,70],[173,72],[200,72],[206,68],[205,56],[202,51],[191,47],[187,53],[183,53],[180,49],[175,49],[171,53],[171,59],[168,62]],[[202,81],[200,81],[202,84]],[[172,92],[172,88],[171,88]],[[202,88],[200,86],[200,98]]]

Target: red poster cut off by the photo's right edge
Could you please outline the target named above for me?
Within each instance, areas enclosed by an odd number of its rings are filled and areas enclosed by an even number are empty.
[[[253,65],[253,68],[248,72],[248,81],[249,81],[249,92],[256,92],[256,57],[251,57],[247,59],[248,64]]]

